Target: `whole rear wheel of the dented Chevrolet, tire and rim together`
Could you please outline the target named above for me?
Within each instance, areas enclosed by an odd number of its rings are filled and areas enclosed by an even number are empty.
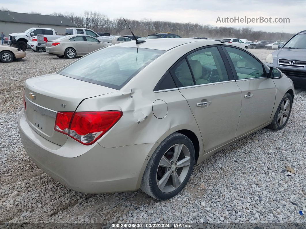
[[[195,150],[191,140],[175,132],[152,154],[140,188],[157,200],[170,199],[185,187],[194,163]]]

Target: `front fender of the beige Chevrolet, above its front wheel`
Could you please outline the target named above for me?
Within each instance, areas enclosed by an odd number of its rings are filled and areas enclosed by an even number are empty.
[[[276,97],[275,97],[275,104],[274,104],[273,113],[271,115],[270,123],[272,122],[274,114],[278,109],[278,105],[280,104],[285,93],[291,89],[293,90],[293,94],[295,94],[293,81],[289,79],[287,76],[283,76],[280,79],[273,79],[273,81],[276,86]]]

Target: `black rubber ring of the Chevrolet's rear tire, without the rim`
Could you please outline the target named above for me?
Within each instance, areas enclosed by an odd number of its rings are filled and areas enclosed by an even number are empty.
[[[189,171],[188,174],[185,178],[185,180],[181,183],[180,187],[178,187],[176,190],[169,192],[169,193],[165,193],[162,192],[159,187],[157,186],[157,182],[156,182],[156,174],[157,174],[157,169],[158,169],[158,165],[159,162],[161,160],[161,158],[163,157],[163,155],[166,153],[166,151],[173,145],[175,144],[184,144],[190,153],[190,167],[189,167]],[[167,141],[165,144],[162,145],[162,147],[158,147],[157,150],[155,150],[155,152],[157,154],[157,156],[154,158],[153,162],[152,162],[152,167],[151,167],[151,171],[150,171],[150,178],[149,178],[149,185],[151,187],[151,190],[153,191],[153,193],[156,195],[156,198],[159,200],[166,200],[169,199],[175,195],[177,195],[186,185],[186,183],[188,182],[190,175],[192,174],[192,170],[193,170],[193,166],[194,166],[194,162],[195,162],[195,150],[194,150],[194,146],[191,142],[191,140],[185,136],[185,135],[179,135],[179,136],[173,136],[173,138],[169,141]]]

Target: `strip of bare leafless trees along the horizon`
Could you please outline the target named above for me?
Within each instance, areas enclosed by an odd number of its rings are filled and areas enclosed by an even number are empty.
[[[7,9],[1,9],[7,10]],[[30,12],[40,14],[39,12]],[[69,19],[76,27],[89,28],[96,32],[106,32],[111,35],[131,35],[123,18],[110,19],[103,13],[97,11],[84,11],[82,15],[73,12],[51,13],[53,16],[63,16]],[[158,21],[151,19],[125,19],[138,36],[147,36],[151,33],[170,32],[181,37],[207,37],[222,39],[224,37],[235,37],[248,40],[288,40],[294,34],[282,32],[255,31],[252,27],[232,28],[225,26],[212,26],[198,23],[178,23],[170,21]]]

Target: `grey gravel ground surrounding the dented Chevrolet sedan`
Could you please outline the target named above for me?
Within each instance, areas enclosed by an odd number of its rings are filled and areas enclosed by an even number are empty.
[[[273,52],[251,51],[263,60]],[[24,151],[17,125],[24,80],[70,62],[27,51],[24,60],[0,63],[0,227],[8,222],[104,222],[106,227],[113,222],[305,225],[306,89],[297,88],[284,129],[257,131],[195,166],[185,189],[168,201],[156,201],[140,190],[83,194],[35,166]]]

